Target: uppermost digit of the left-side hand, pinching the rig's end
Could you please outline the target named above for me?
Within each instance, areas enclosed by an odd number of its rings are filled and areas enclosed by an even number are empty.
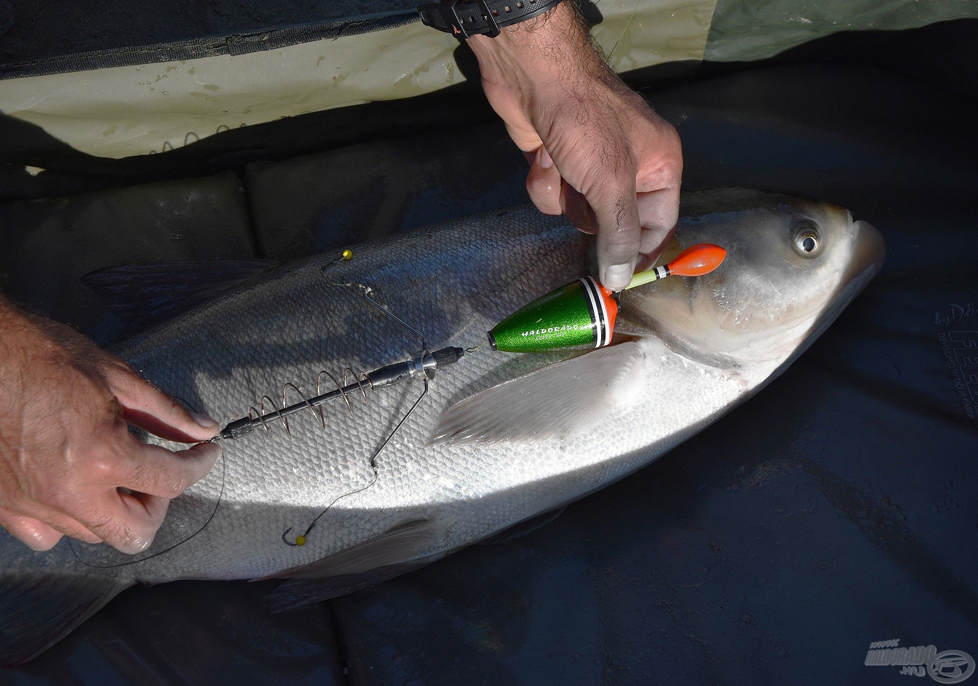
[[[122,407],[125,420],[161,439],[198,443],[217,434],[216,421],[188,411],[121,361],[106,372],[106,381]]]

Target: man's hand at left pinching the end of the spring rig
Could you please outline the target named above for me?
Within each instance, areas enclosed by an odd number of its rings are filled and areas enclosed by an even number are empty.
[[[34,550],[63,535],[146,549],[170,498],[221,454],[140,443],[131,422],[182,443],[212,438],[194,416],[74,330],[0,299],[0,526]]]

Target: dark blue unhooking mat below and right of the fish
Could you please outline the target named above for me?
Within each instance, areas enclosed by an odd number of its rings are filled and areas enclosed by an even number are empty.
[[[871,642],[978,657],[978,109],[819,65],[652,101],[690,185],[836,200],[886,238],[882,272],[783,376],[526,536],[280,616],[263,584],[131,589],[0,680],[894,684],[901,667],[864,665]],[[501,174],[519,199],[521,171]]]

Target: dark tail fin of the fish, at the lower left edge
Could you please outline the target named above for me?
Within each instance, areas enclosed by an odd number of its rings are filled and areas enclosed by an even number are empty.
[[[0,576],[0,665],[20,665],[44,652],[127,586],[43,571]]]

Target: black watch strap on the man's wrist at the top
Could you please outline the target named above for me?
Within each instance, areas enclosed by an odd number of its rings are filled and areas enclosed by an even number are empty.
[[[422,5],[422,23],[463,38],[476,33],[498,36],[503,26],[528,20],[560,4],[560,0],[444,0]]]

